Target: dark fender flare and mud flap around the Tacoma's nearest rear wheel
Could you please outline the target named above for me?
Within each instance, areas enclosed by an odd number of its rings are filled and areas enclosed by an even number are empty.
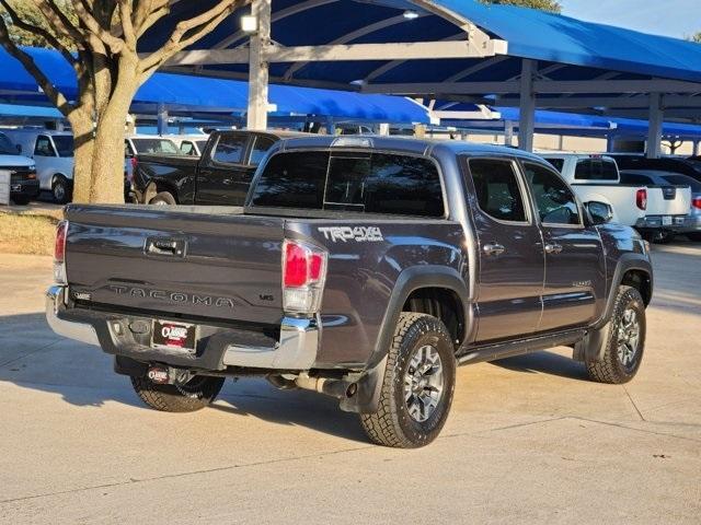
[[[394,327],[399,323],[399,316],[409,296],[412,292],[422,288],[445,288],[456,292],[463,308],[462,340],[466,340],[470,334],[473,324],[470,294],[464,280],[457,270],[435,265],[413,266],[402,270],[394,282],[375,350],[368,360],[368,366],[356,382],[356,395],[341,400],[342,410],[358,413],[377,411],[387,369],[387,353],[394,335]]]

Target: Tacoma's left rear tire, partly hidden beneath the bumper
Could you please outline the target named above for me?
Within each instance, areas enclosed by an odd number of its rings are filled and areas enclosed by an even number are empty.
[[[148,377],[131,376],[134,390],[149,407],[162,412],[194,412],[212,402],[223,377],[193,377],[182,386],[159,385]]]

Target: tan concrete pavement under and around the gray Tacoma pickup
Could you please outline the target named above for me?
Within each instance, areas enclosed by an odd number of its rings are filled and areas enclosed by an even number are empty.
[[[149,410],[46,326],[50,260],[0,255],[0,522],[698,524],[701,246],[654,259],[633,383],[589,383],[564,349],[466,366],[441,436],[395,451],[332,399],[262,381]]]

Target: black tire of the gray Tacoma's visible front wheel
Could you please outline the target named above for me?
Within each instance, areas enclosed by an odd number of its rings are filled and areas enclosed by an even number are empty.
[[[632,328],[627,326],[629,311],[634,312],[637,323],[637,338],[634,345],[629,337]],[[604,345],[606,347],[601,360],[586,363],[589,378],[599,383],[620,385],[635,377],[645,349],[645,303],[634,288],[619,287]],[[621,345],[624,347],[622,350]]]

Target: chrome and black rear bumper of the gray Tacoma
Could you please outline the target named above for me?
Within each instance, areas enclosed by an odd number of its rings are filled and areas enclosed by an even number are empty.
[[[100,346],[114,355],[210,371],[229,366],[306,371],[312,369],[317,360],[321,339],[318,318],[283,317],[279,328],[267,332],[198,325],[196,352],[188,353],[152,348],[152,317],[68,308],[66,291],[67,287],[62,285],[47,291],[46,319],[51,329],[60,336]]]

